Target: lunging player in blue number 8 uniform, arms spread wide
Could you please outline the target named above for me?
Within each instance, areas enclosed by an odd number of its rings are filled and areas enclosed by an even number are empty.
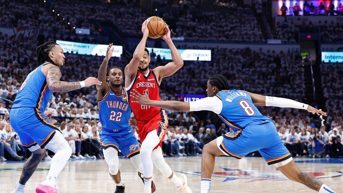
[[[147,94],[133,90],[130,95],[142,105],[160,107],[174,111],[209,110],[232,128],[202,149],[201,193],[211,189],[211,176],[216,156],[231,156],[241,159],[258,150],[268,165],[275,165],[287,178],[302,183],[318,192],[334,192],[310,173],[302,172],[295,165],[290,152],[283,145],[271,119],[262,115],[255,105],[298,108],[313,114],[326,112],[290,99],[263,96],[244,90],[230,90],[223,75],[213,75],[207,82],[208,97],[194,102],[152,101]]]

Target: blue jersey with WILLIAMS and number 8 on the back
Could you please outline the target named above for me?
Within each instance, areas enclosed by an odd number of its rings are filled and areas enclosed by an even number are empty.
[[[223,104],[218,114],[219,118],[234,131],[241,130],[253,122],[271,121],[261,114],[250,95],[243,90],[222,90],[216,96]]]

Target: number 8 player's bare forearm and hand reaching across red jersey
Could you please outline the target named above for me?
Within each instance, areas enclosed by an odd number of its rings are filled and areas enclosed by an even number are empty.
[[[130,92],[130,96],[137,100],[137,101],[132,101],[132,103],[140,103],[142,105],[160,107],[163,109],[168,109],[168,110],[173,110],[173,111],[189,111],[188,102],[150,100],[147,94],[142,95],[135,89],[133,89]]]

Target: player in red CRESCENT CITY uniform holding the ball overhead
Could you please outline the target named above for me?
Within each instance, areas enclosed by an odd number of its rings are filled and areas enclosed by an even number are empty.
[[[176,49],[172,38],[170,38],[170,30],[165,24],[165,34],[162,36],[162,39],[168,45],[170,52],[172,53],[173,62],[170,62],[165,66],[158,66],[154,69],[149,68],[149,51],[145,49],[146,40],[149,35],[149,30],[147,28],[148,23],[148,20],[143,22],[142,40],[137,45],[132,60],[125,67],[125,87],[128,92],[135,89],[141,94],[148,93],[150,99],[160,100],[159,87],[162,78],[170,76],[180,69],[183,66],[183,60]],[[165,111],[161,108],[132,103],[132,100],[135,99],[129,98],[132,112],[134,112],[137,119],[137,133],[142,142],[140,155],[144,171],[144,193],[151,192],[154,165],[165,177],[169,178],[181,192],[192,192],[187,186],[186,176],[183,174],[179,177],[176,176],[170,166],[164,161],[161,142],[165,137],[166,128],[168,126],[168,119]]]

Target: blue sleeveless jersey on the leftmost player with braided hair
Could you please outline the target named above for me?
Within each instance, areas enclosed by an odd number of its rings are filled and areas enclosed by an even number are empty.
[[[46,76],[42,72],[44,63],[29,73],[24,83],[18,90],[12,108],[33,107],[41,112],[45,111],[52,91],[46,82]]]

